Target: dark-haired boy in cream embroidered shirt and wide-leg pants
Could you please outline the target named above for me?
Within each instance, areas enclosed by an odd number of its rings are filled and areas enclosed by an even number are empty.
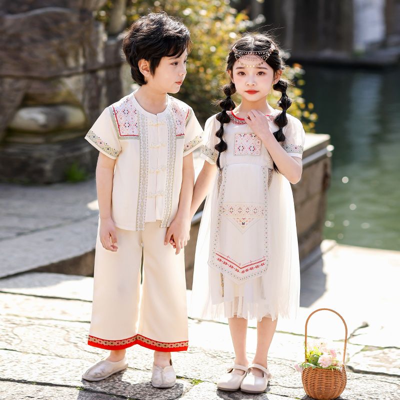
[[[111,350],[82,375],[87,380],[125,369],[125,348],[140,344],[154,350],[152,385],[171,387],[176,375],[170,352],[187,349],[183,247],[190,229],[192,151],[203,132],[192,109],[167,93],[179,91],[190,48],[187,27],[166,13],[136,20],[123,51],[139,88],[105,108],[85,136],[100,151],[88,344]]]

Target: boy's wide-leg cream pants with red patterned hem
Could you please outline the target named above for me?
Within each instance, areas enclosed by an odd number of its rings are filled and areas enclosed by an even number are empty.
[[[166,228],[159,225],[147,222],[143,231],[116,228],[117,251],[104,249],[97,232],[89,345],[187,349],[184,254],[164,246]]]

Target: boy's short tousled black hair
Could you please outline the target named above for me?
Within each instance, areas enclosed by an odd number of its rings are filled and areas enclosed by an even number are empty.
[[[123,39],[122,49],[132,79],[141,86],[146,81],[138,67],[140,59],[149,61],[150,73],[154,75],[162,57],[179,57],[186,48],[190,51],[191,45],[189,29],[177,18],[160,11],[134,21]]]

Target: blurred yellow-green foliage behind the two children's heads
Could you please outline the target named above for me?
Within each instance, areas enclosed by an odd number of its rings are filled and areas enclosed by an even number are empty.
[[[128,0],[127,21],[132,23],[147,12],[164,10],[168,15],[179,17],[189,28],[193,49],[187,59],[187,75],[179,93],[175,96],[191,105],[200,122],[215,112],[212,105],[223,94],[220,86],[227,81],[225,58],[229,46],[240,33],[251,30],[255,22],[244,12],[238,12],[229,0]],[[97,18],[107,22],[112,1],[98,12]],[[316,113],[313,104],[306,103],[301,96],[304,71],[301,65],[287,67],[283,76],[294,85],[287,94],[293,100],[288,112],[301,119],[304,129],[313,132]],[[274,92],[268,102],[275,107],[280,93]],[[238,98],[235,98],[239,101]]]

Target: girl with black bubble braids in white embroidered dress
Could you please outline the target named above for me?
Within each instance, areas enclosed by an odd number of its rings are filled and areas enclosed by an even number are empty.
[[[301,177],[305,134],[301,122],[286,114],[291,101],[283,69],[272,38],[242,36],[227,57],[230,83],[223,88],[222,111],[205,124],[206,162],[195,183],[191,215],[213,184],[196,246],[192,316],[228,318],[235,362],[218,381],[222,390],[266,389],[267,353],[277,317],[292,316],[298,309],[299,260],[289,182]],[[281,92],[281,111],[266,102],[271,88]],[[237,106],[234,93],[241,96]],[[249,318],[257,319],[250,365],[245,352]]]

